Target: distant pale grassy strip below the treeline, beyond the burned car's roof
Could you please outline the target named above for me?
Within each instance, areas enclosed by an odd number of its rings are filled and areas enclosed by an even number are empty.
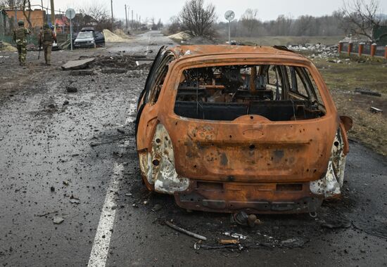
[[[265,37],[231,37],[241,44],[259,46],[288,46],[289,44],[338,44],[343,36],[319,36],[319,37],[296,37],[296,36],[265,36]],[[224,42],[226,40],[224,39]]]

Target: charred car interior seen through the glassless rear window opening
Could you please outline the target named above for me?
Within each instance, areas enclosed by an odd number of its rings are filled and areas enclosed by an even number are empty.
[[[227,65],[184,70],[175,114],[223,121],[260,115],[291,121],[322,117],[325,108],[305,67]]]

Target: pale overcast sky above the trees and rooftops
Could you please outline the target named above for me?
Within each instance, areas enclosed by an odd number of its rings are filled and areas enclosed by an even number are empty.
[[[367,1],[367,0],[365,0]],[[49,6],[49,0],[43,0],[44,6]],[[61,11],[67,8],[79,8],[88,4],[99,3],[106,6],[110,12],[110,0],[54,0],[55,9]],[[32,4],[41,4],[41,0],[32,0]],[[184,5],[184,0],[113,0],[113,15],[115,18],[125,18],[125,4],[129,11],[134,11],[144,18],[161,18],[168,22],[172,15],[177,15]],[[258,9],[260,20],[274,20],[278,15],[291,15],[293,18],[299,15],[327,15],[338,10],[342,6],[341,0],[205,0],[205,3],[212,3],[216,7],[218,20],[224,20],[224,13],[232,10],[239,18],[246,8]],[[387,0],[381,0],[381,11],[387,13]]]

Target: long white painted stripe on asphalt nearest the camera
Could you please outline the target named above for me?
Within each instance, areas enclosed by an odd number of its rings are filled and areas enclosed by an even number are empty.
[[[122,177],[123,165],[115,163],[113,175],[110,180],[108,192],[106,193],[105,202],[99,219],[99,225],[94,237],[93,247],[91,249],[88,267],[104,267],[108,258],[110,237],[113,230],[115,219],[116,203],[115,193],[118,191],[120,177]]]

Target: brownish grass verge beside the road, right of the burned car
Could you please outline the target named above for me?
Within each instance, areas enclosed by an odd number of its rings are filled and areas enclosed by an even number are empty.
[[[337,58],[336,58],[337,59]],[[329,63],[323,58],[313,58],[319,68],[340,115],[353,118],[349,137],[360,141],[382,155],[387,155],[387,64],[386,61],[358,61],[341,58],[342,64]],[[366,96],[355,89],[370,89],[381,93]],[[375,107],[383,113],[375,114]]]

